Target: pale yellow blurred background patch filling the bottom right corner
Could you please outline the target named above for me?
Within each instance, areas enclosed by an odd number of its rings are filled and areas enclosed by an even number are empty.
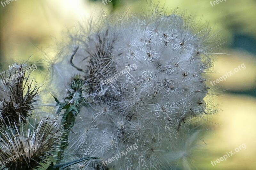
[[[220,111],[207,123],[213,130],[204,142],[208,145],[203,153],[200,169],[255,169],[256,151],[256,99],[242,95],[224,94],[216,98]],[[220,159],[226,152],[241,145],[242,149],[227,160],[212,166],[211,161]],[[245,147],[244,147],[245,148]],[[207,168],[206,168],[207,167]]]

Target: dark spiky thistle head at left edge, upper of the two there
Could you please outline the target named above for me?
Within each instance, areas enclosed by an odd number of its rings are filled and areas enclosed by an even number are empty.
[[[31,67],[27,64],[13,64],[1,74],[0,84],[0,126],[9,125],[10,122],[23,122],[35,109],[38,89],[29,81]],[[28,76],[26,77],[26,72]]]

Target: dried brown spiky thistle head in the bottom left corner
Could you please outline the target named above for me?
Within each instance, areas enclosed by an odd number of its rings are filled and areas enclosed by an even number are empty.
[[[9,170],[39,168],[59,152],[62,131],[56,121],[43,118],[35,127],[4,126],[0,131],[0,167]],[[7,159],[9,159],[7,161]]]

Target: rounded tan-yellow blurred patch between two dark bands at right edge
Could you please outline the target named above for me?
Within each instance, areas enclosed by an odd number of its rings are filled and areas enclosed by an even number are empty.
[[[225,55],[218,55],[212,67],[212,74],[209,81],[212,81],[214,87],[220,87],[222,90],[251,90],[256,88],[256,58],[245,52],[226,50]],[[231,71],[231,73],[230,73]],[[216,83],[226,75],[226,80]],[[213,83],[213,81],[215,81]],[[210,87],[210,82],[207,83]]]

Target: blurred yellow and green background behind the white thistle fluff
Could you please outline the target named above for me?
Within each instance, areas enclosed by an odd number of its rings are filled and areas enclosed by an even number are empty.
[[[5,0],[0,0],[5,1]],[[44,79],[47,62],[57,53],[57,44],[85,18],[97,19],[101,11],[111,14],[119,11],[146,10],[146,0],[112,0],[104,5],[101,0],[17,0],[0,5],[0,67],[4,70],[15,61],[38,63],[34,78]],[[214,60],[214,81],[227,72],[234,72],[226,81],[212,86],[214,105],[220,110],[204,121],[207,144],[193,159],[198,169],[256,169],[256,1],[226,0],[210,4],[209,0],[152,0],[166,8],[166,14],[186,11],[202,24],[209,22],[219,32],[223,45]],[[212,166],[226,152],[246,145],[235,155]]]

